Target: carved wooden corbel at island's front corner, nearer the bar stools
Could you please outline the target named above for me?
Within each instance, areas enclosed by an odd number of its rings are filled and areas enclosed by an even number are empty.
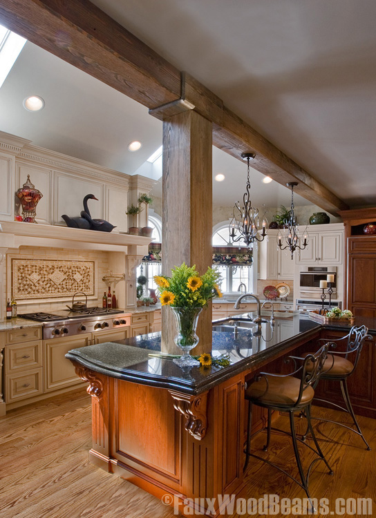
[[[203,439],[207,430],[207,392],[198,396],[189,396],[174,390],[169,390],[169,393],[173,397],[173,407],[185,416],[185,430],[198,441]]]

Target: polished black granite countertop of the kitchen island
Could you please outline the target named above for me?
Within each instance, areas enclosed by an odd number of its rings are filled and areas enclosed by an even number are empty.
[[[94,372],[146,385],[199,394],[218,383],[272,358],[276,353],[307,340],[319,331],[321,324],[306,316],[275,320],[274,326],[262,323],[259,329],[213,332],[212,356],[229,354],[228,367],[187,367],[182,369],[170,359],[154,358],[149,352],[160,352],[160,333],[127,338],[72,349],[66,358]]]

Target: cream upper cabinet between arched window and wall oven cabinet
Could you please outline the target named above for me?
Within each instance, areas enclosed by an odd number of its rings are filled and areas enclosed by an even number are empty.
[[[259,243],[261,279],[289,280],[294,278],[294,260],[288,250],[277,246],[278,230],[268,230],[267,238]]]

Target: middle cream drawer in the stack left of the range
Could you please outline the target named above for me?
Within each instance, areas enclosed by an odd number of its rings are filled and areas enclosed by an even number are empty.
[[[6,346],[6,374],[42,365],[41,340]]]

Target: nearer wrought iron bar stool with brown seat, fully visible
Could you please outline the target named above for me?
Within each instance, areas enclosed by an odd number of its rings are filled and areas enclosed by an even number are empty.
[[[310,497],[310,492],[308,490],[308,478],[310,476],[310,470],[313,464],[317,461],[324,461],[329,470],[329,474],[333,474],[332,469],[330,468],[328,462],[323,456],[323,452],[321,452],[321,448],[319,447],[319,443],[317,442],[316,437],[314,436],[314,431],[312,428],[311,420],[310,420],[310,406],[312,403],[312,399],[314,396],[314,390],[312,385],[316,383],[317,378],[319,377],[323,365],[326,361],[326,357],[328,354],[329,344],[323,345],[317,353],[308,354],[305,358],[298,358],[297,356],[290,356],[292,361],[294,362],[295,370],[289,375],[281,375],[281,374],[269,374],[267,372],[261,372],[258,374],[254,380],[247,386],[245,390],[245,399],[249,401],[248,407],[248,428],[247,428],[247,444],[245,448],[245,464],[243,470],[247,469],[248,462],[250,457],[255,457],[261,461],[264,461],[274,468],[280,470],[290,477],[290,479],[294,480],[296,483],[306,491],[308,498],[310,499],[311,505],[312,500]],[[301,363],[300,367],[298,367],[298,362]],[[300,378],[294,377],[294,374],[300,374]],[[297,460],[297,466],[301,478],[301,482],[291,474],[283,470],[280,466],[268,461],[267,459],[263,459],[256,454],[250,452],[250,443],[251,443],[251,425],[252,425],[252,406],[257,405],[264,408],[267,408],[267,441],[264,446],[264,450],[266,451],[269,443],[270,443],[270,430],[271,430],[271,414],[272,410],[277,410],[279,412],[289,412],[290,416],[290,429],[291,429],[291,437],[292,437],[292,445],[294,448],[295,459]],[[310,445],[303,443],[301,439],[297,437],[294,428],[294,412],[301,412],[305,410],[307,421],[308,421],[308,429],[312,434],[312,439],[314,441],[314,445],[316,446],[316,450],[312,448]],[[273,430],[275,430],[273,428]],[[279,430],[280,432],[284,432],[283,430]],[[303,466],[301,465],[301,459],[298,450],[297,441],[301,441],[303,444],[306,444],[308,448],[310,448],[313,452],[317,454],[317,458],[314,459],[308,468],[307,473],[305,474],[303,471]],[[313,506],[312,506],[313,508]]]

